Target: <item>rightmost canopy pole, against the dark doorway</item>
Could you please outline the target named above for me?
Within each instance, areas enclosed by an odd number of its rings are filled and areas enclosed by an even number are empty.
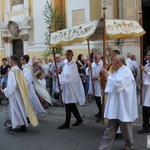
[[[143,27],[143,23],[142,23],[142,14],[143,12],[140,11],[139,12],[139,17],[140,17],[140,25],[141,27]],[[143,36],[140,36],[140,64],[143,65]],[[140,71],[140,80],[142,81],[142,70]],[[142,89],[143,89],[143,85],[142,83],[140,82],[140,105],[142,105]]]

